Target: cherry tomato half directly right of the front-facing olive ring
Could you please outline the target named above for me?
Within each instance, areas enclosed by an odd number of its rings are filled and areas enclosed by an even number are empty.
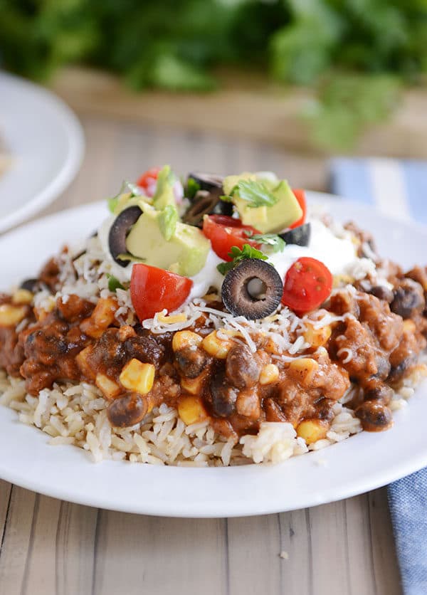
[[[320,260],[298,258],[288,270],[283,285],[282,303],[297,314],[320,306],[332,290],[332,274]]]

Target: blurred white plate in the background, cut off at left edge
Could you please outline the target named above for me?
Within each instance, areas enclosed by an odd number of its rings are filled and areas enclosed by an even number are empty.
[[[0,176],[0,233],[55,200],[78,172],[83,131],[48,90],[0,73],[0,137],[10,153]]]

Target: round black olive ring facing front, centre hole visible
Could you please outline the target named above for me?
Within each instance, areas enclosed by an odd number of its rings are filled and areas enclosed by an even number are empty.
[[[234,316],[265,318],[280,304],[283,283],[272,265],[247,258],[226,274],[221,288],[224,305]]]

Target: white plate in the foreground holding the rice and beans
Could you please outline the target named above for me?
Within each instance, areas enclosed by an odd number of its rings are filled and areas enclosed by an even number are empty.
[[[372,231],[381,253],[411,266],[426,258],[427,231],[350,202],[330,201],[330,212]],[[43,259],[75,234],[89,234],[106,215],[92,204],[28,224],[0,238],[1,285],[34,275]],[[78,230],[75,232],[73,230]],[[25,255],[25,256],[24,256]],[[231,468],[157,467],[92,463],[73,446],[48,446],[48,436],[0,407],[0,477],[43,494],[85,505],[176,517],[258,515],[331,502],[366,492],[427,465],[427,385],[397,411],[394,428],[363,432],[324,451],[280,465]]]

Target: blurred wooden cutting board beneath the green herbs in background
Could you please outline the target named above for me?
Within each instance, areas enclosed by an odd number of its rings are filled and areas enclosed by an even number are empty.
[[[301,117],[303,107],[312,102],[311,90],[287,88],[266,76],[239,71],[219,72],[218,79],[221,87],[216,93],[135,93],[114,75],[70,67],[59,71],[51,87],[88,115],[238,135],[307,154],[322,152]],[[426,109],[426,88],[406,90],[391,117],[363,131],[352,153],[426,159]]]

